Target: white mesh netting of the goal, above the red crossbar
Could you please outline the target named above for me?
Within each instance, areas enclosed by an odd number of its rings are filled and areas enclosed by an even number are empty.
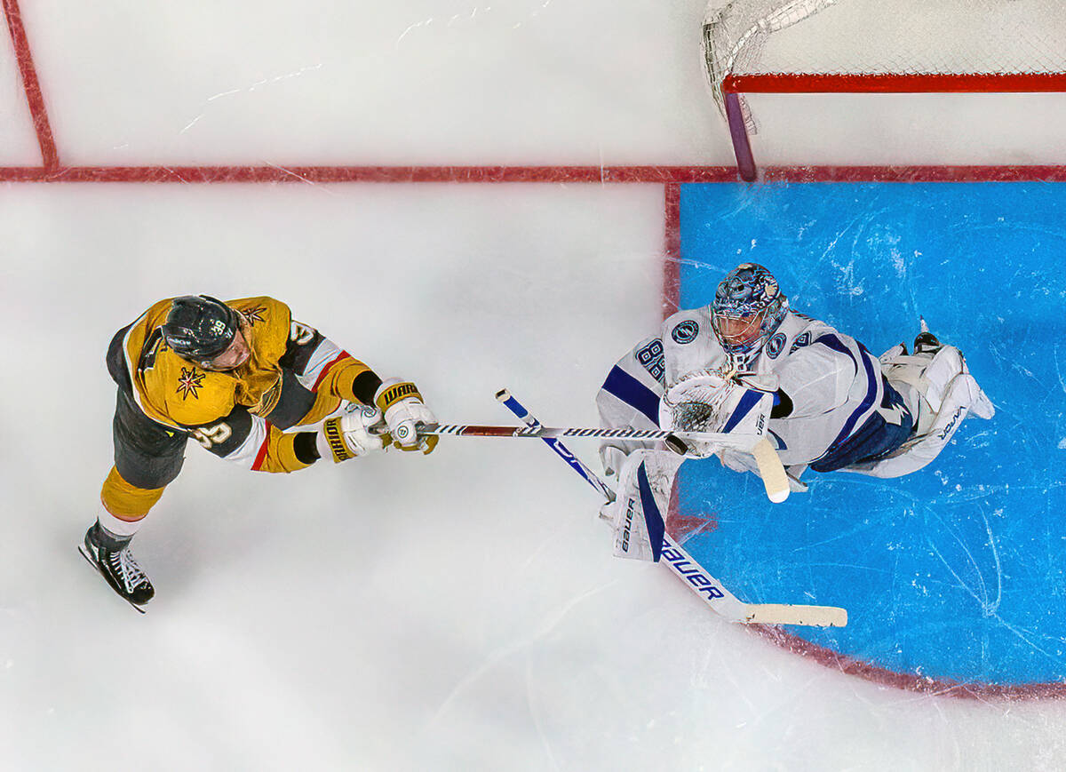
[[[1066,73],[1066,0],[712,0],[704,58],[720,107],[730,75]]]

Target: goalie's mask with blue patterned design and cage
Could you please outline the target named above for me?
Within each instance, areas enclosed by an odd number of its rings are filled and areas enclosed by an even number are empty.
[[[722,279],[711,304],[711,325],[722,348],[740,363],[762,351],[789,312],[777,279],[762,266],[745,262]]]

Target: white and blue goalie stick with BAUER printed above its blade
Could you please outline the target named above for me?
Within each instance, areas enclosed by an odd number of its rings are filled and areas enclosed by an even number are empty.
[[[534,429],[540,422],[530,415],[506,389],[496,393],[504,407],[514,413],[527,427]],[[558,438],[542,437],[545,444],[566,462],[578,475],[585,479],[608,501],[614,501],[615,493],[592,469],[581,463]],[[694,593],[699,595],[716,614],[742,624],[762,625],[806,625],[809,627],[843,627],[847,624],[847,611],[836,606],[793,606],[789,604],[745,604],[722,586],[717,579],[705,572],[692,557],[668,534],[663,534],[662,558],[677,576],[684,579]]]

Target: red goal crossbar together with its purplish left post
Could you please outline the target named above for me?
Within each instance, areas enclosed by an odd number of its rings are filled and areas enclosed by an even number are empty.
[[[758,170],[741,109],[742,94],[1011,94],[1066,92],[1066,73],[794,74],[729,75],[722,96],[737,168],[742,179]]]

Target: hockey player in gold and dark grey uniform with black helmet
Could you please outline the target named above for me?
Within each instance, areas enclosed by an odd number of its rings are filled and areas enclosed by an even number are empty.
[[[429,453],[437,441],[418,436],[418,424],[436,418],[413,383],[383,381],[272,297],[160,301],[115,334],[107,364],[118,385],[115,464],[83,554],[135,607],[155,590],[129,543],[181,471],[189,438],[274,472],[390,446]]]

